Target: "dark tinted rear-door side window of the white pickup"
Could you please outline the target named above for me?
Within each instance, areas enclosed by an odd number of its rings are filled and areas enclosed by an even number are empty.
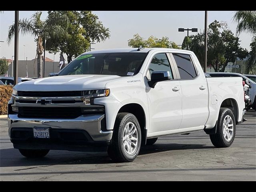
[[[172,55],[177,64],[180,79],[193,79],[196,77],[196,70],[189,55],[176,53],[173,53]]]

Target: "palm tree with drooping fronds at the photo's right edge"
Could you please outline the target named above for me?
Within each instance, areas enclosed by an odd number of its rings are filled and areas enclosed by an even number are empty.
[[[256,68],[256,11],[236,11],[233,20],[236,21],[236,33],[248,32],[253,35],[251,48],[248,60],[246,62],[246,72],[251,74]]]

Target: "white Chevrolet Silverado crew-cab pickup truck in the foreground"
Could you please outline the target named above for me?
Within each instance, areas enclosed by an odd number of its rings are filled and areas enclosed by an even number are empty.
[[[14,148],[108,151],[133,161],[160,136],[204,130],[228,147],[242,122],[242,78],[206,78],[195,54],[166,48],[86,52],[56,76],[21,82],[8,103]]]

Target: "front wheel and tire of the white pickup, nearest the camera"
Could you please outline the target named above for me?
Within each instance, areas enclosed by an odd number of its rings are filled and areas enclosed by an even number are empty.
[[[130,131],[133,132],[132,135],[130,135]],[[112,139],[108,146],[110,158],[114,162],[131,162],[138,156],[140,145],[141,130],[137,118],[131,113],[118,113]]]

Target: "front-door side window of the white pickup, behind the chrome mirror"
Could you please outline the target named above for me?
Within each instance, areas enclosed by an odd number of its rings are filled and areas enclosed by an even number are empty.
[[[156,54],[148,67],[147,78],[151,80],[151,74],[153,71],[170,71],[172,74],[172,70],[170,68],[170,63],[165,53]],[[171,76],[173,79],[173,76]]]

